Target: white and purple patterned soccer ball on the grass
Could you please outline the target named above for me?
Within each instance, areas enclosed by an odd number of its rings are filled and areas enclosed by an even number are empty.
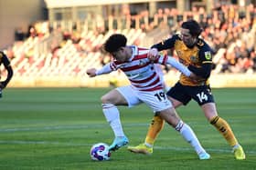
[[[106,161],[111,158],[109,145],[98,143],[91,146],[91,159],[94,161]]]

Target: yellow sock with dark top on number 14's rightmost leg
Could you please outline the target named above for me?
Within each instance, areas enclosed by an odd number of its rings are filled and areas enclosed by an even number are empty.
[[[238,144],[238,141],[228,122],[226,122],[224,119],[219,116],[215,116],[210,120],[210,124],[214,125],[219,130],[219,133],[224,136],[229,145],[234,146]]]

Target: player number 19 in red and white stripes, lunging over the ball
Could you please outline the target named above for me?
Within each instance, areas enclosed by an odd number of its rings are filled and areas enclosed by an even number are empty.
[[[129,46],[126,43],[127,39],[124,35],[111,35],[105,42],[104,49],[112,55],[112,62],[104,65],[100,70],[95,68],[87,70],[87,74],[93,77],[120,69],[131,83],[131,85],[117,87],[101,97],[103,114],[115,135],[110,150],[117,150],[129,142],[123,133],[117,105],[131,107],[144,103],[172,125],[194,147],[199,158],[205,155],[204,159],[209,159],[210,155],[200,145],[193,130],[180,119],[166,97],[163,81],[155,70],[155,64],[172,65],[184,75],[189,77],[194,75],[173,57],[159,55],[152,62],[147,58],[148,49],[135,45]]]

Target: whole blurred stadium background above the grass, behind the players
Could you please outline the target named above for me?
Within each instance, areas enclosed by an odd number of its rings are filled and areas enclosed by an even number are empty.
[[[0,50],[15,73],[9,86],[126,84],[121,72],[86,75],[111,60],[101,51],[106,38],[121,33],[128,45],[150,47],[187,19],[199,22],[214,50],[211,85],[256,86],[256,0],[0,0]],[[163,70],[175,83],[179,73]],[[0,73],[4,79],[3,65]]]

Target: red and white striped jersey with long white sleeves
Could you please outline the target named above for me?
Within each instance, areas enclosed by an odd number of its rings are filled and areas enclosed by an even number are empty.
[[[112,71],[121,69],[128,77],[134,89],[140,91],[155,91],[164,88],[161,75],[157,73],[155,64],[172,65],[184,75],[191,75],[191,72],[185,65],[177,62],[175,58],[168,55],[158,55],[152,62],[147,58],[149,49],[137,46],[130,46],[133,49],[133,55],[129,61],[119,62],[113,60],[111,63],[104,65],[101,70],[96,71],[96,75],[108,74]]]

